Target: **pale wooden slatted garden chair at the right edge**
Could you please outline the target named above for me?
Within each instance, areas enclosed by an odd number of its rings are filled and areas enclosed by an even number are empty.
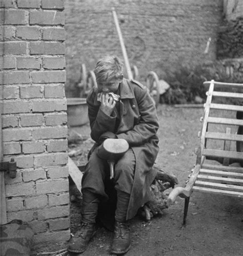
[[[196,164],[186,186],[173,189],[167,200],[185,198],[183,224],[193,191],[243,197],[243,84],[204,84],[209,89]]]

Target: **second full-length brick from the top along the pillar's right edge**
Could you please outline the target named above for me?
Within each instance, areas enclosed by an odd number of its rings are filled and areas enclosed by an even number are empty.
[[[59,42],[31,42],[30,54],[65,54],[65,44]]]

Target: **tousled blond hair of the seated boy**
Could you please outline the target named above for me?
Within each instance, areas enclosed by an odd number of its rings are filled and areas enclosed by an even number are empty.
[[[117,56],[106,56],[100,59],[94,69],[97,83],[123,76],[123,62]]]

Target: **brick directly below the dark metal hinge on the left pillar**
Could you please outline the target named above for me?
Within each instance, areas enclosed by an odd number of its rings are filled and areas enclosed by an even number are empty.
[[[7,185],[6,197],[34,195],[35,194],[34,185],[35,185],[34,182],[28,182],[28,183],[21,182],[19,184]]]

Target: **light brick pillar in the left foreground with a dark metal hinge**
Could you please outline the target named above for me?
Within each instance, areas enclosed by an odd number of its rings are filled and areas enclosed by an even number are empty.
[[[69,184],[64,0],[3,0],[0,79],[7,220],[31,224],[35,243],[67,241]]]

